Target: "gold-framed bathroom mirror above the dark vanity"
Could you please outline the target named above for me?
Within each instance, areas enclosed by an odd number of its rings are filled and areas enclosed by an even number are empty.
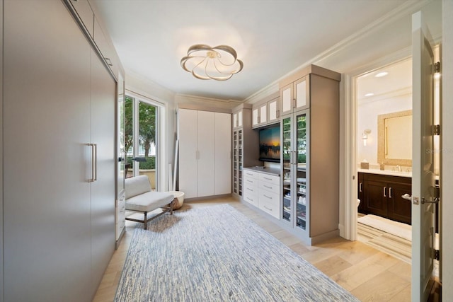
[[[377,116],[377,161],[412,165],[412,110]]]

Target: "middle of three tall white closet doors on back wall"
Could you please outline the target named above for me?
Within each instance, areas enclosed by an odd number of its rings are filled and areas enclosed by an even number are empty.
[[[214,112],[197,111],[197,143],[198,197],[211,196],[214,195]]]

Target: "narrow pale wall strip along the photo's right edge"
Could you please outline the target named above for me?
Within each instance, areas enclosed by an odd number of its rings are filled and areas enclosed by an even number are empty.
[[[442,1],[442,296],[453,297],[453,1]]]

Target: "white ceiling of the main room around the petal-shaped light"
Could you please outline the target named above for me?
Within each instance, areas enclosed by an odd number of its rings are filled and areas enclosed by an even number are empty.
[[[244,100],[310,62],[406,0],[91,0],[126,74],[185,95]],[[194,44],[234,47],[243,70],[228,81],[180,67]]]

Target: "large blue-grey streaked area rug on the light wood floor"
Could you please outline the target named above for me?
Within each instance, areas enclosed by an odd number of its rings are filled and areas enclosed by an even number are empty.
[[[358,301],[228,204],[135,228],[115,301]]]

